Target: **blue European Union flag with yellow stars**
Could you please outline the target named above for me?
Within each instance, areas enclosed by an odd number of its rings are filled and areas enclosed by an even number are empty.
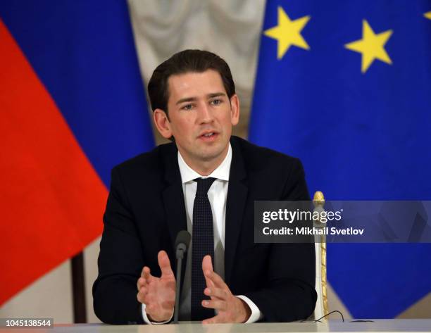
[[[249,138],[298,156],[327,199],[431,199],[431,2],[268,1]],[[329,244],[356,318],[431,291],[431,244]]]

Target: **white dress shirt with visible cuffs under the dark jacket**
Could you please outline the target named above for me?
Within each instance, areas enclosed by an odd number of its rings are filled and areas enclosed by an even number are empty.
[[[213,213],[213,230],[214,230],[214,271],[225,279],[225,220],[226,220],[226,199],[227,187],[229,185],[229,172],[230,163],[232,162],[232,147],[229,144],[227,155],[223,162],[218,165],[211,175],[202,176],[198,172],[185,163],[180,152],[178,151],[178,165],[180,167],[180,174],[182,180],[182,193],[184,194],[186,216],[187,216],[187,231],[192,234],[193,222],[193,205],[194,197],[196,196],[197,183],[194,182],[196,178],[213,177],[215,181],[211,184],[208,190],[208,199],[211,204],[211,211]],[[182,285],[182,292],[180,297],[180,318],[190,320],[191,312],[191,299],[192,299],[192,242],[190,243],[189,250],[187,251],[187,263],[185,269],[185,280]],[[172,264],[172,263],[171,263]],[[204,297],[204,295],[202,295]],[[258,309],[248,297],[239,295],[249,306],[251,315],[246,323],[256,322],[263,317],[261,311]],[[169,322],[150,322],[145,312],[145,304],[142,304],[142,317],[147,324],[164,324]],[[172,319],[172,317],[171,317]]]

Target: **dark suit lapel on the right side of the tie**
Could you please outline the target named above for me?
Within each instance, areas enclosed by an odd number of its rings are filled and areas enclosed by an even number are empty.
[[[246,182],[244,182],[246,177],[244,160],[234,137],[231,139],[231,145],[232,163],[230,165],[229,186],[227,189],[225,222],[225,282],[227,285],[230,283],[248,192]]]

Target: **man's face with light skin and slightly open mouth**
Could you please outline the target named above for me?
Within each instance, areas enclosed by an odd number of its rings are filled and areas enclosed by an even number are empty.
[[[227,97],[215,70],[173,75],[168,79],[168,87],[169,120],[164,121],[164,129],[158,127],[163,137],[173,135],[189,165],[221,163],[227,153],[232,125],[239,120],[237,96]]]

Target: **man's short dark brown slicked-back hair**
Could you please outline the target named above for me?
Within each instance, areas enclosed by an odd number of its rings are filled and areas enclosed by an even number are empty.
[[[154,70],[148,83],[151,108],[160,108],[168,114],[168,79],[171,75],[217,71],[229,99],[235,94],[235,83],[229,65],[217,54],[202,50],[184,50],[171,56]]]

